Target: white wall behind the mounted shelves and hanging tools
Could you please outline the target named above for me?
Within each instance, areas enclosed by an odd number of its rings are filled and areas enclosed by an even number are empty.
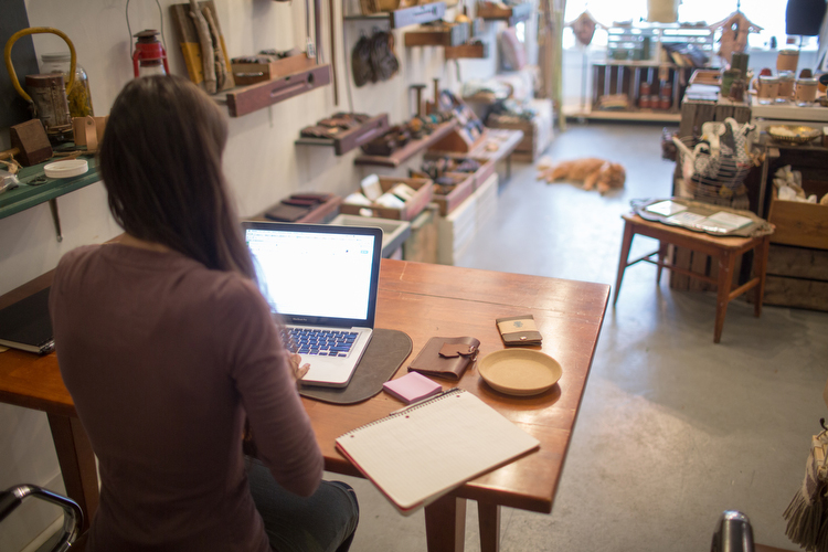
[[[161,0],[163,31],[170,70],[184,75],[183,59],[176,45],[178,39],[169,15],[172,3],[176,2]],[[342,1],[333,3],[337,10],[342,9]],[[326,60],[330,60],[328,2],[323,4],[323,44]],[[304,6],[301,1],[216,0],[219,22],[229,54],[237,56],[269,47],[302,47]],[[134,39],[127,31],[126,0],[26,0],[26,8],[32,26],[55,26],[72,39],[78,62],[89,76],[95,114],[106,115],[119,89],[132,77],[130,44]],[[129,22],[132,33],[158,29],[160,19],[156,2],[132,0]],[[382,23],[344,22],[349,57],[360,31],[370,33],[374,25],[382,26]],[[500,23],[488,25],[489,40],[493,40],[498,25]],[[332,148],[294,145],[300,128],[336,110],[348,110],[344,86],[348,74],[341,49],[341,31],[337,31],[340,77],[338,107],[333,105],[331,87],[327,86],[267,109],[230,119],[225,171],[242,215],[257,213],[296,191],[344,195],[357,188],[363,173],[363,169],[353,164],[357,152],[335,157]],[[385,83],[353,88],[353,108],[371,114],[388,112],[392,123],[400,123],[414,112],[413,95],[408,91],[412,83],[431,85],[435,76],[442,77],[454,89],[458,88],[459,83],[454,64],[444,63],[440,49],[405,49],[401,31],[395,32],[395,38],[401,74]],[[493,41],[490,45],[496,52]],[[34,46],[39,55],[66,49],[63,41],[53,35],[35,35]],[[464,78],[485,77],[492,74],[495,67],[493,56],[487,61],[464,61],[461,74]],[[8,131],[0,129],[0,147],[6,149]],[[148,182],[148,185],[151,184]],[[63,253],[82,244],[103,242],[120,232],[108,214],[106,194],[99,183],[64,195],[57,203],[63,226],[62,243],[55,240],[45,203],[0,220],[0,294],[54,268]],[[31,482],[63,490],[44,414],[0,404],[0,488]],[[23,521],[14,523],[19,529],[15,534],[0,532],[0,550],[21,550],[28,542],[25,535],[33,537],[49,522],[51,519],[43,516],[24,516]]]

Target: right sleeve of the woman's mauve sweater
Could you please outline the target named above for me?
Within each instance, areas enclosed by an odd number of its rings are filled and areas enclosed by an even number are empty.
[[[267,302],[248,282],[230,284],[226,320],[231,378],[241,395],[256,440],[258,459],[276,481],[300,496],[314,493],[323,458],[290,373]]]

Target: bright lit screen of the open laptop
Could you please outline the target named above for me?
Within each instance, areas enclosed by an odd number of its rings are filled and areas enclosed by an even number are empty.
[[[373,327],[382,231],[244,223],[262,294],[286,323]]]

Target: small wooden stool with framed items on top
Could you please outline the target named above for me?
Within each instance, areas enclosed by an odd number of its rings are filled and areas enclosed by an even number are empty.
[[[658,266],[656,283],[661,280],[661,269],[667,267],[673,272],[684,274],[692,278],[699,278],[718,287],[718,297],[715,304],[715,328],[713,330],[713,342],[718,343],[722,338],[722,327],[724,326],[724,315],[728,311],[728,304],[744,294],[749,289],[756,288],[754,302],[754,314],[756,317],[762,315],[762,300],[765,295],[765,270],[767,269],[767,250],[771,245],[771,234],[758,237],[719,237],[705,234],[703,232],[692,232],[678,226],[669,226],[660,222],[650,222],[641,219],[637,214],[622,215],[624,219],[624,241],[622,242],[620,259],[618,261],[618,277],[615,280],[615,291],[613,294],[613,306],[618,300],[624,270],[629,266],[644,261]],[[629,246],[633,243],[633,236],[640,234],[647,237],[654,237],[659,241],[658,251],[644,255],[633,262],[627,262],[629,257]],[[667,255],[667,245],[672,244],[677,247],[687,247],[688,250],[698,251],[719,259],[719,278],[714,279],[686,268],[671,266],[665,263]],[[736,263],[736,256],[749,251],[755,250],[754,269],[756,276],[750,282],[731,290],[733,282],[733,270]],[[658,255],[658,261],[650,257]]]

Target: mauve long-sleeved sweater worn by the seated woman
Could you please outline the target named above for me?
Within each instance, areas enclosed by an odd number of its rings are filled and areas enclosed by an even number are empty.
[[[322,457],[255,284],[179,253],[87,246],[61,259],[50,307],[99,461],[87,550],[270,550],[247,489],[245,414],[286,489],[311,495]]]

